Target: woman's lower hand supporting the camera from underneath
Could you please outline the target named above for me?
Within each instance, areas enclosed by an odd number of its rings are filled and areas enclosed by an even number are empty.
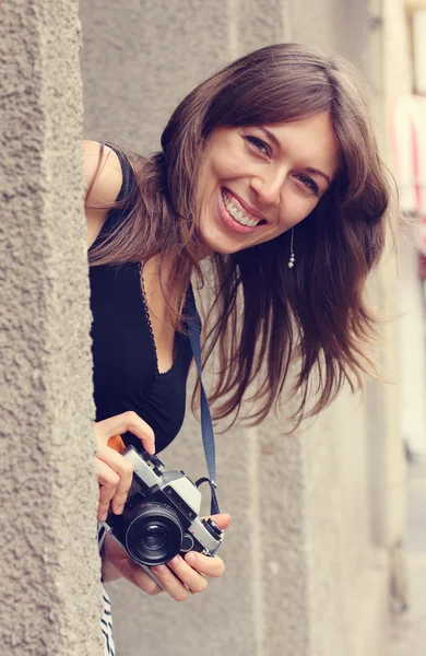
[[[222,530],[230,524],[230,517],[226,514],[212,515],[212,519]],[[185,559],[177,555],[167,565],[152,567],[153,574],[163,586],[161,587],[109,536],[105,539],[103,561],[104,581],[114,581],[121,575],[149,595],[158,595],[164,590],[176,601],[184,601],[190,593],[205,590],[208,587],[205,576],[216,578],[222,576],[225,571],[224,562],[218,555],[212,558],[190,551]]]

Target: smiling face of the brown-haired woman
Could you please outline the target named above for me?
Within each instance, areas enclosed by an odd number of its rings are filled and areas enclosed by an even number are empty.
[[[328,190],[339,162],[328,113],[213,130],[197,187],[203,256],[268,242],[303,221]]]

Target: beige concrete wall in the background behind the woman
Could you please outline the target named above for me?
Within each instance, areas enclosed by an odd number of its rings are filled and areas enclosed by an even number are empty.
[[[368,9],[367,0],[130,0],[108,9],[81,0],[86,137],[156,148],[197,82],[274,42],[340,49],[369,73]],[[374,529],[388,525],[390,452],[377,436],[389,434],[389,402],[382,385],[369,389],[364,402],[343,393],[291,437],[273,419],[217,436],[220,497],[234,517],[222,549],[227,573],[182,605],[111,585],[119,656],[379,653],[389,566]],[[191,477],[204,471],[191,417],[164,460]],[[375,505],[378,491],[383,503]]]

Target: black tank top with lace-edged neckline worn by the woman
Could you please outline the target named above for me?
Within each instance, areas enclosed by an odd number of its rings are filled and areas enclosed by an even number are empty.
[[[128,160],[120,152],[117,155],[123,175],[120,200],[134,185],[134,177]],[[121,208],[110,210],[92,248],[125,216]],[[192,352],[188,338],[176,332],[174,364],[168,372],[158,372],[140,273],[139,262],[90,268],[96,421],[133,410],[153,429],[158,453],[182,424]],[[141,446],[131,433],[122,437],[126,444]]]

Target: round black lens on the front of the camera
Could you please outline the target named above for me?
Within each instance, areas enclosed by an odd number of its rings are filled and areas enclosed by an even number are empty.
[[[175,511],[165,504],[144,503],[126,517],[125,547],[141,565],[162,565],[179,551],[182,528]]]

